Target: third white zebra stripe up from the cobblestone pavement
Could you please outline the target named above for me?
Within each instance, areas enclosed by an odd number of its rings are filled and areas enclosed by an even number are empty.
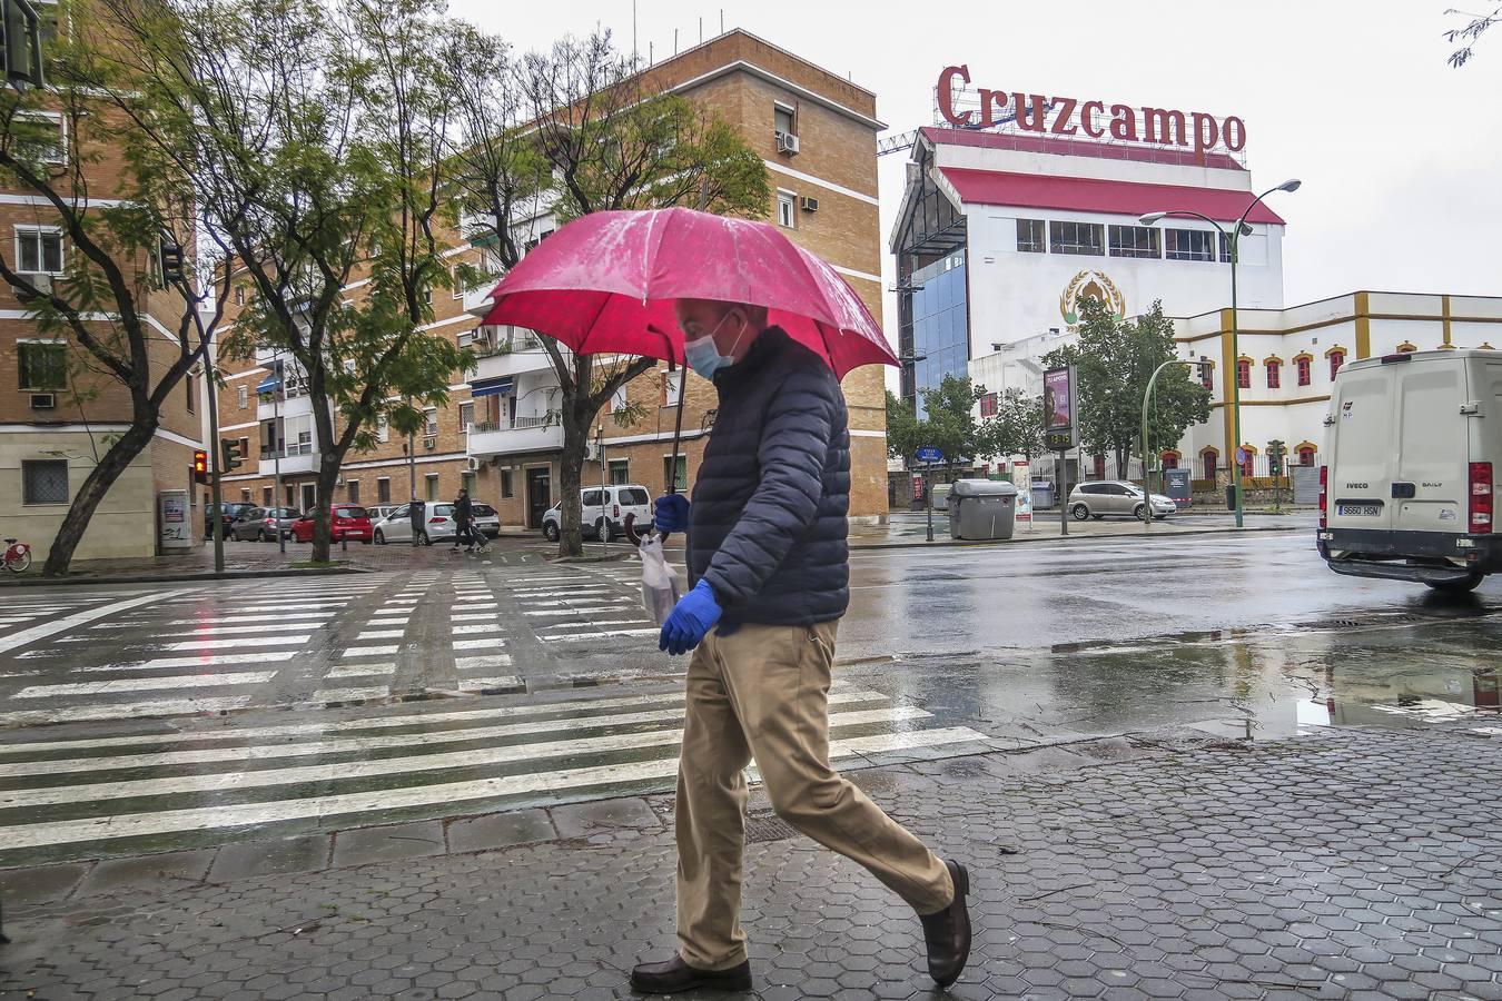
[[[470,657],[484,660],[484,657]],[[508,659],[509,660],[509,659]],[[485,666],[485,665],[476,665]],[[500,665],[496,665],[500,666]],[[841,687],[837,681],[835,687]],[[870,689],[835,690],[829,695],[831,705],[847,702],[885,702],[888,696]],[[559,713],[571,708],[623,708],[629,705],[668,705],[683,702],[682,692],[659,692],[655,695],[634,695],[608,699],[577,699],[563,702],[526,702],[521,705],[493,705],[488,708],[454,710],[445,713],[398,713],[394,716],[371,716],[365,719],[345,719],[323,723],[278,723],[273,726],[243,726],[233,729],[203,729],[174,731],[170,734],[132,734],[120,737],[80,737],[75,740],[41,740],[30,743],[6,744],[0,743],[0,755],[35,753],[53,750],[78,750],[86,747],[132,747],[141,744],[174,744],[200,743],[204,740],[269,740],[278,737],[299,737],[311,734],[321,737],[332,732],[351,729],[386,729],[395,726],[433,726],[437,723],[467,723],[487,719],[506,719],[514,716],[538,716],[542,713]],[[66,711],[66,710],[60,710]],[[592,716],[565,716],[563,720],[589,720]],[[586,723],[587,725],[587,723]]]

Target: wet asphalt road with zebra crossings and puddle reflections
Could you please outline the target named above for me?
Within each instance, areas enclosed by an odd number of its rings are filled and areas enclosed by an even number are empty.
[[[6,591],[0,866],[670,789],[683,663],[637,581],[455,557]],[[832,750],[1497,726],[1497,611],[1502,581],[1335,576],[1308,530],[864,551]]]

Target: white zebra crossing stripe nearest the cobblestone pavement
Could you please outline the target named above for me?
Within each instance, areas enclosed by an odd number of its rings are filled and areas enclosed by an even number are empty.
[[[964,726],[948,729],[918,729],[900,734],[880,734],[877,737],[858,737],[853,740],[831,741],[829,756],[849,758],[861,753],[907,750],[913,747],[931,747],[966,743],[972,740],[984,741],[985,735]],[[545,792],[554,789],[668,779],[674,774],[677,774],[676,756],[659,758],[655,761],[502,776],[494,779],[443,782],[437,785],[409,786],[403,789],[371,789],[366,792],[342,792],[296,800],[270,800],[264,803],[236,803],[149,813],[123,813],[117,816],[92,816],[54,824],[23,824],[0,828],[0,843],[5,843],[8,849],[20,849],[116,837],[144,837],[176,831],[201,831],[225,827],[246,827],[251,824],[275,824],[306,818],[324,819],[345,813],[389,812],[406,807],[509,797],[524,792]]]

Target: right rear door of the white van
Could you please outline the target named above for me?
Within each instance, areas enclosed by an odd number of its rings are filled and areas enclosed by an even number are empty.
[[[1469,417],[1461,359],[1383,365],[1397,384],[1395,531],[1466,531]]]

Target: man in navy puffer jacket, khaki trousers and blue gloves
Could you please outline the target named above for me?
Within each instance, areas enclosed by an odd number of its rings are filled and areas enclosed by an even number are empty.
[[[943,861],[829,767],[829,672],[849,605],[850,434],[840,383],[766,309],[679,300],[685,360],[719,410],[694,503],[658,498],[688,533],[694,588],[659,645],[694,650],[677,773],[677,953],[641,963],[647,993],[751,989],[740,929],[754,759],[780,816],[853,858],[922,920],[928,971],[954,983],[970,951],[969,873]]]

